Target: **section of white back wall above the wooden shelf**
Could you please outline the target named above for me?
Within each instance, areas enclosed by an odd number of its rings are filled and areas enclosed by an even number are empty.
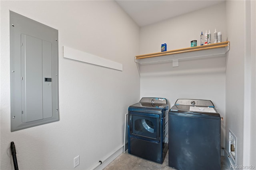
[[[161,52],[161,44],[167,44],[167,50],[190,47],[190,41],[197,40],[200,46],[200,34],[207,30],[222,32],[226,41],[225,3],[170,18],[156,24],[140,28],[140,54]]]

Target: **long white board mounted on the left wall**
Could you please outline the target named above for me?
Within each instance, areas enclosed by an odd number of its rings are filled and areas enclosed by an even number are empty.
[[[89,64],[94,64],[98,66],[103,66],[103,67],[123,71],[123,64],[120,64],[118,62],[114,62],[105,58],[101,58],[99,56],[95,56],[87,52],[75,50],[73,48],[69,48],[66,46],[63,46],[63,57],[71,60],[76,60],[80,62],[85,62]]]

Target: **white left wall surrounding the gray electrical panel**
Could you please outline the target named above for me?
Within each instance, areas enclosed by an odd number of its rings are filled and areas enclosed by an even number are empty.
[[[139,27],[114,1],[0,3],[0,169],[13,169],[11,141],[16,145],[21,170],[73,169],[73,158],[78,155],[80,165],[76,169],[90,169],[114,150],[122,149],[124,114],[140,97],[134,63],[139,53]],[[10,132],[9,10],[59,32],[58,122]],[[64,59],[62,46],[122,63],[123,71]]]

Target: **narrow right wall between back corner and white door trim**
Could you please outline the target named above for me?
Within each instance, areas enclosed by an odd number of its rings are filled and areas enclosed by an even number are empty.
[[[226,150],[229,129],[237,137],[236,165],[243,162],[244,130],[244,1],[227,1],[227,36],[232,43],[226,70]]]

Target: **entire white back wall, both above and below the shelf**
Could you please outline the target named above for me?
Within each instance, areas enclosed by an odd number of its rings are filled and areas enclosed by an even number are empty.
[[[160,52],[164,43],[167,50],[188,48],[192,40],[200,46],[201,31],[206,30],[212,33],[213,43],[215,29],[226,41],[225,2],[140,28],[140,54]],[[225,56],[179,60],[178,67],[172,67],[172,62],[141,64],[140,97],[167,98],[171,106],[178,98],[211,100],[225,120],[225,72]],[[225,121],[221,145],[225,145]]]

